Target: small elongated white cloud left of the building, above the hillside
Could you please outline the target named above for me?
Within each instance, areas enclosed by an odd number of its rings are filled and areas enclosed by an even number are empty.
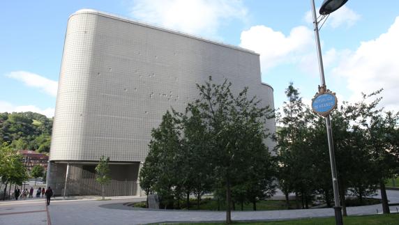
[[[48,95],[57,96],[58,82],[40,75],[36,75],[32,72],[26,71],[15,71],[6,74],[6,77],[17,79],[23,82],[27,86],[39,88],[40,91],[47,93]]]

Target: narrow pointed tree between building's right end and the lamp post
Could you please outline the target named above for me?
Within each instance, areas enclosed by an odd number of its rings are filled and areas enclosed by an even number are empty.
[[[303,208],[308,208],[308,195],[313,192],[314,178],[310,141],[310,111],[302,102],[298,89],[292,83],[285,90],[287,101],[283,106],[282,127],[277,130],[278,180],[280,189],[285,194],[287,208],[288,195],[295,192],[296,207],[299,205],[299,195]],[[305,197],[305,199],[303,199]]]

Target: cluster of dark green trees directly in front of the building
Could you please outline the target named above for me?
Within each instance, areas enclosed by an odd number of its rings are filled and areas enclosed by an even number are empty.
[[[197,84],[199,98],[184,113],[167,111],[153,129],[140,184],[160,195],[163,205],[179,204],[183,195],[188,205],[190,193],[199,203],[204,193],[214,192],[226,200],[231,222],[232,200],[256,208],[257,200],[273,194],[273,160],[264,144],[270,138],[265,122],[273,111],[250,98],[248,88],[234,94],[231,86],[227,80],[215,84],[211,77]]]

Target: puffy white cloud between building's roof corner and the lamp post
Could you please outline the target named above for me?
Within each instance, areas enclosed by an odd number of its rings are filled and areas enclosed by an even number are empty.
[[[292,63],[314,49],[313,31],[306,26],[294,27],[289,36],[259,25],[241,32],[240,46],[260,54],[262,71],[280,63]]]

